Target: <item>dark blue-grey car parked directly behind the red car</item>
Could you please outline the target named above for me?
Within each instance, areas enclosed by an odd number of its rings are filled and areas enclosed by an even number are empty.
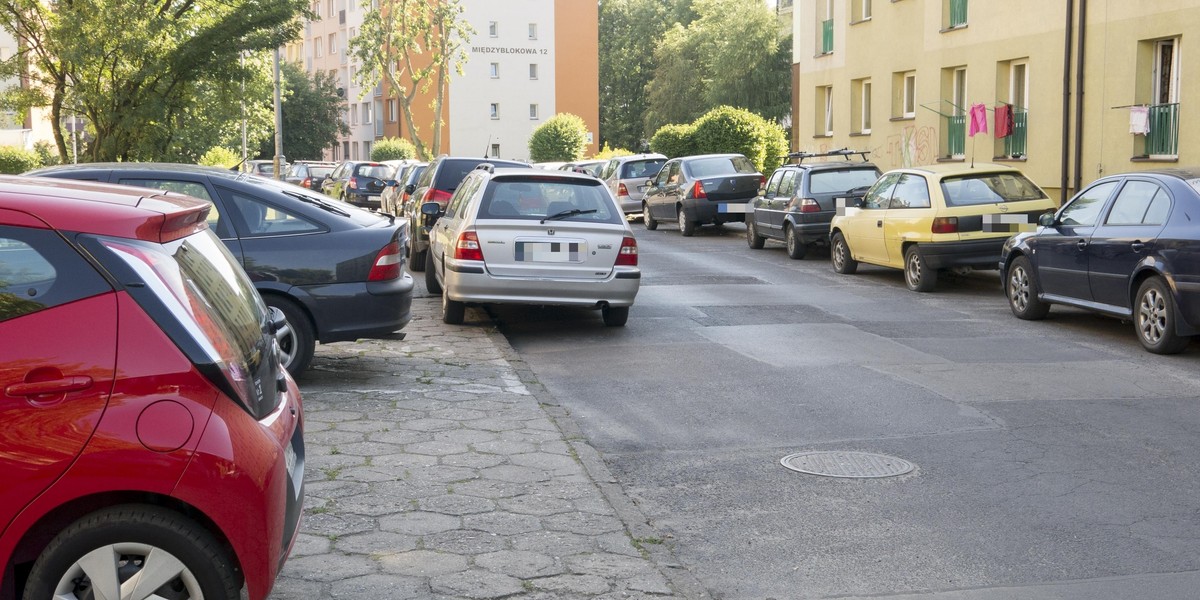
[[[28,175],[155,187],[211,202],[209,227],[287,320],[276,337],[294,376],[308,366],[317,341],[386,337],[412,318],[408,229],[394,217],[274,179],[187,164],[67,164]]]

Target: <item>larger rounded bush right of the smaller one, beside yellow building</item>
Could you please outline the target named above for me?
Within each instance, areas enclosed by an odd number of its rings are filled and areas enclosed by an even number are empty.
[[[769,174],[787,155],[782,127],[749,110],[718,107],[696,120],[692,134],[700,154],[738,152]]]

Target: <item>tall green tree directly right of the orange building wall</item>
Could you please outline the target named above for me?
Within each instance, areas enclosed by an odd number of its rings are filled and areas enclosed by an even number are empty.
[[[647,84],[654,77],[655,52],[673,23],[695,18],[690,0],[600,1],[600,142],[640,148]]]

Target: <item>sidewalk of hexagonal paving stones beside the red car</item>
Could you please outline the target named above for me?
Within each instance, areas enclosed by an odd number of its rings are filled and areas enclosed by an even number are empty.
[[[486,316],[318,346],[272,600],[704,598]]]

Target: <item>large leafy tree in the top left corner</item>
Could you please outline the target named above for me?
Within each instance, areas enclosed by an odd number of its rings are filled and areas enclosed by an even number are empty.
[[[295,37],[307,6],[307,0],[5,0],[0,25],[17,37],[19,52],[4,68],[28,65],[37,91],[17,98],[24,107],[14,108],[50,107],[62,160],[62,118],[70,113],[88,120],[92,161],[198,151],[182,150],[181,133],[198,113],[235,112],[240,120],[241,82],[253,72],[239,59]]]

